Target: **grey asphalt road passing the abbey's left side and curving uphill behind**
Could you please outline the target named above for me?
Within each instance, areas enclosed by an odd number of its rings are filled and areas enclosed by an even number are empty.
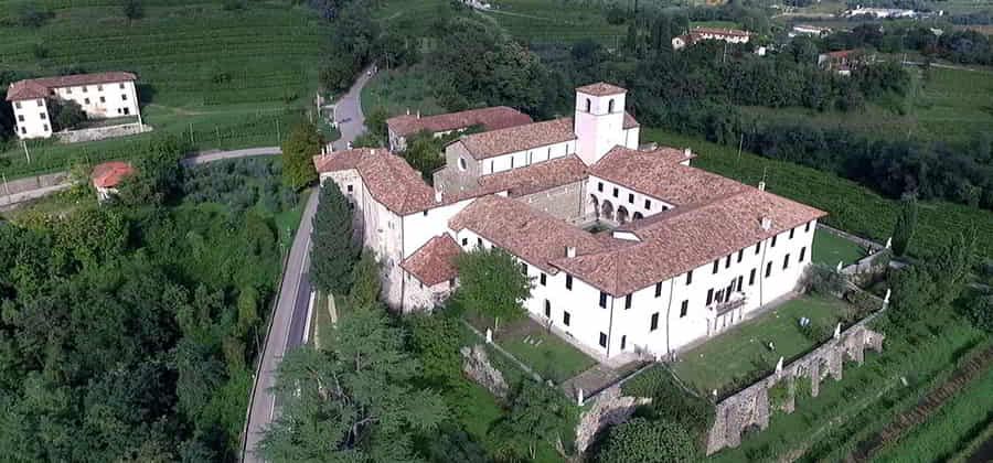
[[[362,75],[352,88],[335,104],[334,118],[341,138],[333,142],[335,150],[345,149],[352,140],[365,131],[365,117],[362,114],[362,87],[370,79],[370,74]],[[261,462],[255,454],[255,448],[261,440],[266,427],[278,412],[276,397],[269,389],[276,384],[276,367],[287,351],[299,347],[303,343],[303,331],[307,309],[310,300],[310,281],[307,279],[307,267],[310,250],[310,232],[313,213],[317,211],[318,192],[312,192],[300,218],[300,228],[293,237],[289,257],[284,268],[279,300],[273,313],[266,343],[261,352],[261,360],[255,375],[255,385],[248,401],[248,416],[245,423],[242,446],[243,462]]]

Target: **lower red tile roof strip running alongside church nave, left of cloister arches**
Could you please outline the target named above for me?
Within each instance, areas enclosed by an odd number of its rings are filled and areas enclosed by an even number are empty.
[[[509,191],[511,197],[526,196],[586,179],[586,164],[575,154],[531,164],[526,168],[479,177],[487,192]]]

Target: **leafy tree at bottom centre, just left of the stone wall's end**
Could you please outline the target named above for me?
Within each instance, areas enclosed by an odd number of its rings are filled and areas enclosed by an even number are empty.
[[[510,413],[490,431],[503,445],[500,453],[509,460],[534,460],[536,448],[547,443],[564,449],[576,424],[578,410],[556,388],[524,380],[514,395]]]

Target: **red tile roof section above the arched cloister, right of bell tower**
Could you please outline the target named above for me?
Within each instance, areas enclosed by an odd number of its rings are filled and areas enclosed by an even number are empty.
[[[694,157],[666,147],[652,151],[615,147],[589,168],[589,173],[677,206],[709,202],[746,187],[734,180],[680,164]]]

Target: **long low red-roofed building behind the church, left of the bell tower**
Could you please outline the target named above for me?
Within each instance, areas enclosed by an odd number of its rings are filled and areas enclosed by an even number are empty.
[[[500,130],[531,122],[533,122],[531,116],[514,108],[496,106],[426,117],[421,117],[419,111],[416,116],[406,114],[386,119],[386,128],[389,149],[403,151],[407,149],[407,138],[425,130],[435,137],[445,137],[451,132],[465,131],[472,126],[481,126],[485,130]]]

